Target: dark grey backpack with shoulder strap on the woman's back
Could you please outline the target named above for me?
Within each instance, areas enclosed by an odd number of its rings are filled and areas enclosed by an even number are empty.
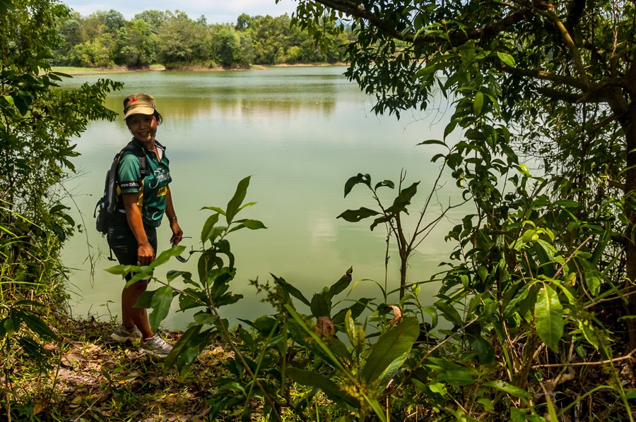
[[[112,224],[115,213],[119,212],[117,197],[117,167],[119,167],[119,159],[122,158],[124,152],[132,151],[139,158],[139,170],[141,172],[141,180],[148,174],[148,163],[146,162],[146,152],[139,145],[130,141],[128,145],[122,148],[121,151],[114,156],[110,170],[106,171],[106,181],[104,183],[104,195],[98,203],[95,205],[95,211],[93,217],[95,220],[95,227],[101,234],[107,234],[108,228]],[[143,190],[143,183],[141,183],[141,189]]]

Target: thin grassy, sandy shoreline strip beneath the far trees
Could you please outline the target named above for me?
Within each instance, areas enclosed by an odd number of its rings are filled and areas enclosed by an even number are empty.
[[[208,68],[205,66],[184,66],[179,69],[167,69],[165,66],[155,64],[146,69],[129,69],[129,68],[81,68],[72,66],[52,66],[52,71],[66,73],[67,75],[91,75],[105,73],[133,73],[133,72],[231,72],[231,71],[264,71],[270,67],[328,67],[328,66],[346,66],[344,63],[328,64],[328,63],[311,63],[311,64],[271,64],[271,65],[252,65],[249,68]]]

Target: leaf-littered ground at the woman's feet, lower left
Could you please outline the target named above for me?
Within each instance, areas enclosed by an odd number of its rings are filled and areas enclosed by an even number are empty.
[[[24,376],[16,376],[14,391],[20,401],[32,398],[33,414],[42,421],[207,420],[205,397],[232,356],[223,344],[212,345],[179,379],[176,368],[164,370],[161,360],[140,351],[139,340],[112,340],[112,323],[65,318],[59,326],[64,327],[61,341],[46,345],[52,352],[49,373],[29,373],[28,362],[15,366]],[[170,332],[164,337],[175,344],[179,335]]]

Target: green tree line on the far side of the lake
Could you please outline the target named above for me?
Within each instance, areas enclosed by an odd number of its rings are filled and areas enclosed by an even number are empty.
[[[194,20],[182,11],[149,10],[132,20],[112,9],[86,17],[73,13],[58,27],[64,42],[54,65],[245,68],[251,64],[334,64],[344,60],[350,31],[330,35],[331,47],[321,50],[313,37],[290,25],[290,20],[287,14],[243,13],[233,24],[208,24],[205,16]]]

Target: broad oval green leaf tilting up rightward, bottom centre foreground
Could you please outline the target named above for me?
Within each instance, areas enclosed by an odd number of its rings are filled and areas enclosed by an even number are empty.
[[[393,361],[408,354],[419,334],[420,322],[415,317],[404,318],[399,325],[384,332],[372,346],[362,370],[362,377],[367,384],[379,380]]]

